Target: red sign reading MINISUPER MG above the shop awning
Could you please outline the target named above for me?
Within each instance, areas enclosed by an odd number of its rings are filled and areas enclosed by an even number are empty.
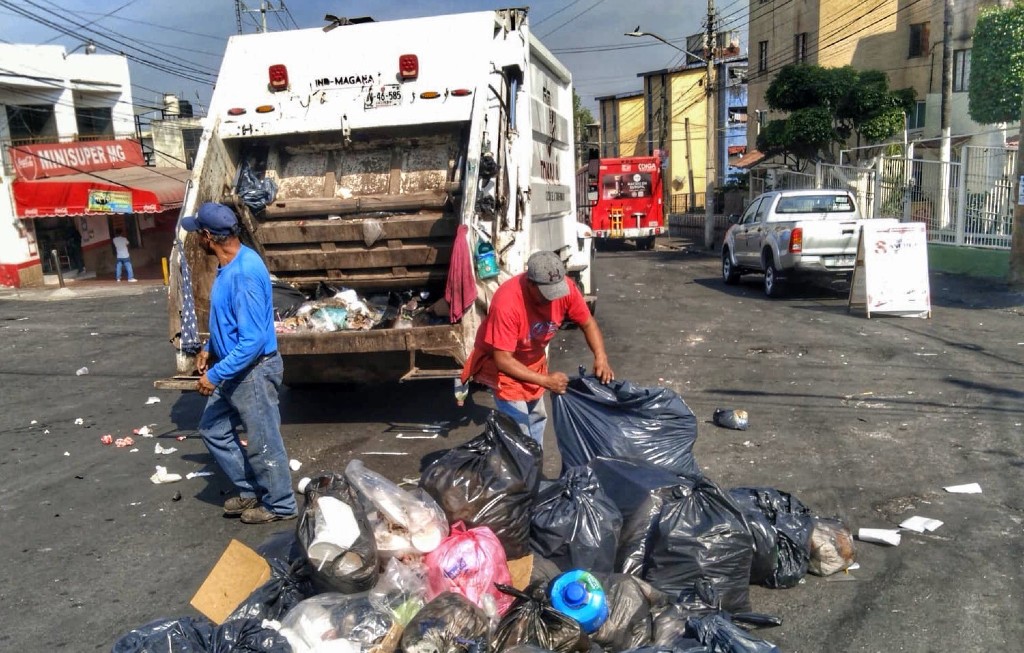
[[[133,140],[12,145],[9,150],[14,174],[25,181],[145,165],[142,146]]]

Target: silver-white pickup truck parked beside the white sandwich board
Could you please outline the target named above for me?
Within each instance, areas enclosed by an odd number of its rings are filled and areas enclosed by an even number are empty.
[[[722,245],[722,279],[764,274],[765,295],[778,297],[782,279],[847,281],[865,220],[846,190],[773,190],[755,198]],[[874,218],[897,223],[892,218]]]

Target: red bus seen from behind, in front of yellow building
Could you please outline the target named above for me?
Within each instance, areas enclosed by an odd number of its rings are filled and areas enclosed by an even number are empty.
[[[654,249],[665,232],[662,170],[656,157],[592,159],[577,172],[578,218],[596,243],[635,241]]]

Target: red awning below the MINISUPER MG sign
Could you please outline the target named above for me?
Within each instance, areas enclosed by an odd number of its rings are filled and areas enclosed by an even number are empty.
[[[130,193],[131,213],[163,213],[181,206],[190,176],[182,168],[135,167],[14,181],[14,210],[19,218],[127,213]],[[97,210],[97,191],[112,191],[121,210]]]

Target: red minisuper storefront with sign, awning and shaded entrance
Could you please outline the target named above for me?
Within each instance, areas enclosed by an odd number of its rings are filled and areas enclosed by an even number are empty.
[[[0,284],[35,286],[57,267],[80,278],[113,279],[111,241],[118,231],[128,238],[136,270],[159,269],[191,171],[145,166],[133,140],[16,145],[10,160],[28,260],[0,261]]]

